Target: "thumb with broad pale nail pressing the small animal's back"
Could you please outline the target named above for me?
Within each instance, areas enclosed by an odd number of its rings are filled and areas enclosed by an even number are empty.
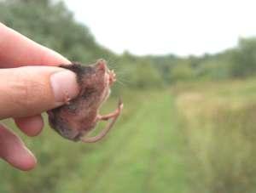
[[[33,116],[79,93],[76,75],[53,66],[0,70],[0,118]]]

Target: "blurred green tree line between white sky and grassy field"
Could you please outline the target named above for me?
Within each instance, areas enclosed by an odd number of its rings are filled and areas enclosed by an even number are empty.
[[[88,27],[77,22],[61,1],[2,0],[0,21],[69,60],[85,64],[99,58],[110,60],[110,65],[120,73],[120,82],[131,88],[245,78],[256,73],[254,37],[241,38],[235,48],[218,54],[179,57],[174,54],[136,56],[125,52],[118,55],[96,43]]]

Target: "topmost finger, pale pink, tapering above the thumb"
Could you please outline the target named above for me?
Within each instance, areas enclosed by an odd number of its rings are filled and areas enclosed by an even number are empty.
[[[66,58],[0,23],[0,67],[69,64]]]

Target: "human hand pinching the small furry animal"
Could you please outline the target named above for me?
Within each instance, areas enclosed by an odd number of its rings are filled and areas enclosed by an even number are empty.
[[[67,94],[70,98],[78,94],[75,74],[56,67],[70,64],[63,56],[1,23],[0,35],[0,120],[12,117],[22,132],[38,135],[44,127],[41,113],[63,105]],[[30,170],[37,162],[3,124],[0,157],[21,170]]]

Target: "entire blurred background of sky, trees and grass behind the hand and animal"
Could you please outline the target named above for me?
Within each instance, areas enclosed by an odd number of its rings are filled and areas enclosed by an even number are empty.
[[[102,113],[119,96],[125,104],[96,144],[62,139],[47,123],[29,139],[4,120],[38,167],[1,161],[0,192],[256,192],[255,5],[0,0],[3,24],[69,60],[108,60],[118,82]]]

